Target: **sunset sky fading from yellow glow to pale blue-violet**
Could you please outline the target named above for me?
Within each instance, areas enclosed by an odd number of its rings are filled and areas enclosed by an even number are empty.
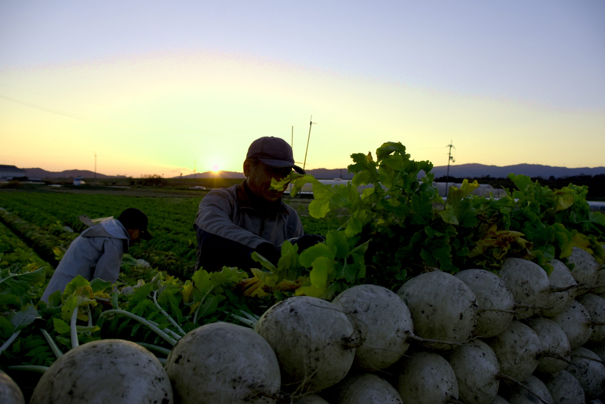
[[[605,2],[0,0],[0,164],[241,171],[313,125],[307,168],[605,166]]]

